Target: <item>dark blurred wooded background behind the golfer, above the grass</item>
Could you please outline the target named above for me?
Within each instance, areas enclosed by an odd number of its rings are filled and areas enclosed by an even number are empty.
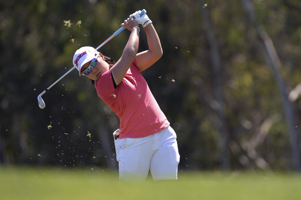
[[[144,8],[163,56],[142,74],[177,133],[179,170],[301,170],[301,1],[0,2],[0,165],[118,169],[119,119],[89,79],[73,70],[45,109],[37,96]],[[117,61],[129,34],[99,51]]]

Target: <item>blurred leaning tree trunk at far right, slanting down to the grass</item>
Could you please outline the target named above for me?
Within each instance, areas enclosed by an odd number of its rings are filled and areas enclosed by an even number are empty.
[[[287,121],[289,135],[290,135],[293,167],[296,171],[301,171],[299,143],[298,143],[297,131],[295,128],[296,123],[293,114],[292,104],[288,100],[288,92],[287,92],[285,82],[278,71],[278,69],[281,68],[281,62],[278,58],[276,49],[274,47],[271,38],[268,36],[268,34],[264,31],[264,29],[259,25],[259,23],[256,20],[256,15],[254,13],[251,0],[241,0],[241,2],[246,9],[247,16],[249,17],[249,19],[253,23],[253,26],[256,29],[256,32],[258,34],[258,37],[260,38],[261,43],[264,46],[264,50],[267,57],[267,63],[271,67],[272,73],[274,75],[274,79],[279,88],[279,92],[282,100],[282,106]]]

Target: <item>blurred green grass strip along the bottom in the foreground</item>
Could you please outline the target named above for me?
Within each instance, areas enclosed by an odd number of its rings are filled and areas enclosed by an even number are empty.
[[[177,181],[119,183],[99,169],[0,168],[0,199],[301,199],[301,175],[179,172]]]

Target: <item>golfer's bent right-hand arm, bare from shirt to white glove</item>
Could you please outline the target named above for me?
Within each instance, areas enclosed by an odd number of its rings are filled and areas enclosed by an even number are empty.
[[[146,24],[147,22],[145,22]],[[147,36],[147,42],[149,50],[143,51],[137,54],[137,69],[143,71],[149,68],[157,60],[159,60],[163,54],[159,36],[152,23],[145,26],[145,33]]]

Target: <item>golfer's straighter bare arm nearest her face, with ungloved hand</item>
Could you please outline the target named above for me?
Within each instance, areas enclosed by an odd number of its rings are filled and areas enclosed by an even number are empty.
[[[138,26],[138,23],[133,18],[127,18],[121,26],[132,31],[132,33],[129,36],[129,40],[125,45],[120,59],[111,68],[116,85],[122,81],[127,70],[133,63],[139,46],[139,28],[133,28],[134,26]]]

